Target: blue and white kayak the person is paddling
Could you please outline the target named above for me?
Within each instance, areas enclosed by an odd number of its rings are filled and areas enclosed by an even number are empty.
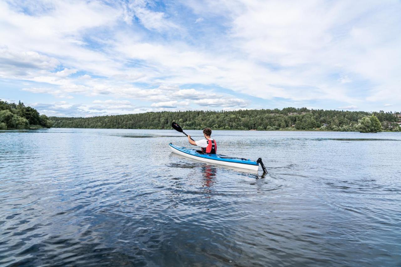
[[[176,145],[173,145],[172,143],[170,143],[169,145],[172,152],[189,159],[195,159],[197,161],[203,161],[207,163],[219,164],[252,171],[257,171],[259,168],[259,163],[257,163],[256,161],[251,161],[249,159],[240,159],[220,154],[201,154],[196,152],[195,149],[178,147]]]

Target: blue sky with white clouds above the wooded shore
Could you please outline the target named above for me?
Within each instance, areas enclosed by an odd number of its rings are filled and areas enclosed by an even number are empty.
[[[400,0],[0,0],[0,99],[48,116],[401,110]]]

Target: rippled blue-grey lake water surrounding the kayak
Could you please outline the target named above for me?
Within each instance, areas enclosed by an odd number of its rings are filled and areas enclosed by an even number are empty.
[[[269,173],[174,130],[0,131],[0,265],[401,265],[401,133],[213,137]]]

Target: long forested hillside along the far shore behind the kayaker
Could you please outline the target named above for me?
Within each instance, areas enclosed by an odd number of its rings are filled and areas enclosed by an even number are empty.
[[[283,108],[236,111],[163,111],[140,114],[96,116],[90,118],[51,117],[59,128],[124,128],[171,129],[175,121],[184,129],[201,130],[205,127],[220,130],[279,130],[325,129],[355,131],[361,120],[375,115],[383,129],[399,130],[398,118],[392,112],[363,112],[342,110],[309,110]],[[390,125],[393,128],[389,128]]]

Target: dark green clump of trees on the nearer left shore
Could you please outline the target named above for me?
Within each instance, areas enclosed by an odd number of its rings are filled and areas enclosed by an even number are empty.
[[[25,106],[21,101],[18,104],[0,100],[0,129],[6,128],[50,128],[53,122],[46,115]]]

